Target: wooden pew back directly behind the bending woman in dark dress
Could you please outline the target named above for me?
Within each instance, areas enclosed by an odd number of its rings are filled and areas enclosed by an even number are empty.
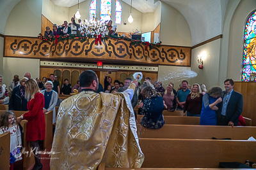
[[[144,115],[137,115],[137,120],[140,123]],[[180,117],[180,116],[164,116],[165,124],[177,125],[200,125],[200,117]]]

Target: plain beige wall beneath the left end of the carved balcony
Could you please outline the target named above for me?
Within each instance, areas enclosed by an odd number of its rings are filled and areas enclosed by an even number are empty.
[[[29,63],[29,66],[28,66]],[[20,78],[24,77],[24,73],[29,72],[31,78],[37,78],[40,75],[39,59],[19,59],[4,57],[3,59],[3,82],[10,85],[13,75],[18,74]]]

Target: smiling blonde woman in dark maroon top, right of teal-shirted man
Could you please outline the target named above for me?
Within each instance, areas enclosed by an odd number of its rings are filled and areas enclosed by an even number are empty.
[[[183,116],[186,115],[187,111],[187,117],[200,117],[203,96],[200,85],[193,84],[191,93],[187,96],[184,105]]]

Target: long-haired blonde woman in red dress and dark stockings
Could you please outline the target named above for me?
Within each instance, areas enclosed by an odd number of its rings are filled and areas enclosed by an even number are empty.
[[[36,80],[29,79],[25,83],[25,98],[28,100],[28,112],[17,118],[17,122],[22,119],[28,120],[27,136],[30,147],[35,155],[35,166],[33,169],[42,169],[40,162],[40,151],[38,141],[45,139],[45,118],[44,118],[44,95],[40,92]]]

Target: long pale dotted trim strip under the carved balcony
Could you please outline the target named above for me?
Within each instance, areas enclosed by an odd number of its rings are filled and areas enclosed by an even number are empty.
[[[157,72],[158,67],[150,66],[120,66],[113,64],[103,64],[103,67],[98,67],[97,64],[79,63],[79,62],[58,62],[58,61],[40,61],[40,66],[50,67],[73,67],[73,68],[86,68],[86,69],[106,69],[106,70],[132,70],[132,71],[152,71]]]

